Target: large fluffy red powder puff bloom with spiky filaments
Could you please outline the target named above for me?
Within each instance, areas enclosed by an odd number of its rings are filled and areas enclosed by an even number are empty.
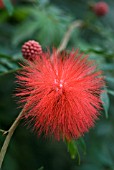
[[[93,127],[101,109],[104,86],[93,61],[78,54],[57,54],[28,61],[17,76],[17,96],[25,104],[25,118],[34,120],[38,135],[75,139]]]

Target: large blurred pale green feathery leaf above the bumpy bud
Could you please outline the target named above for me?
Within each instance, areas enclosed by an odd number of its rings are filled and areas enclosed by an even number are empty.
[[[35,37],[35,40],[44,46],[58,45],[72,17],[63,15],[63,11],[55,6],[47,6],[45,10],[40,7],[27,10],[29,11],[28,17],[17,26],[13,44],[18,45],[24,40]]]

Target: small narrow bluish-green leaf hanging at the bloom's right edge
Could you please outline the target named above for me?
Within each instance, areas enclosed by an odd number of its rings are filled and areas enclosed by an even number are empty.
[[[109,110],[110,101],[109,101],[109,96],[108,96],[106,89],[101,94],[101,100],[102,100],[102,105],[103,105],[103,108],[104,108],[104,111],[105,111],[105,116],[106,116],[106,118],[108,118],[108,110]]]

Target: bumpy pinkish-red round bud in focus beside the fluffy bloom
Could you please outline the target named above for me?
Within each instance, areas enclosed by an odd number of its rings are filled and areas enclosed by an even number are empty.
[[[38,42],[29,40],[22,46],[22,54],[26,60],[34,61],[42,54],[42,47]]]

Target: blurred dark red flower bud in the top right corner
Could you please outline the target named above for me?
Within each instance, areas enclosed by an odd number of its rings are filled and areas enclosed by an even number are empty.
[[[93,6],[93,11],[97,16],[104,16],[109,11],[108,4],[106,2],[98,2]]]

